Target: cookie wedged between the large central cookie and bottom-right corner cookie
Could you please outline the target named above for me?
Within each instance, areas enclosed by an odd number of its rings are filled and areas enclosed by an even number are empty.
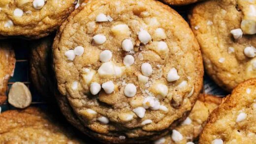
[[[169,134],[154,144],[190,144],[195,141],[211,112],[222,103],[222,98],[213,95],[200,94],[190,115]],[[181,141],[177,141],[177,140]],[[193,144],[193,143],[191,143]]]

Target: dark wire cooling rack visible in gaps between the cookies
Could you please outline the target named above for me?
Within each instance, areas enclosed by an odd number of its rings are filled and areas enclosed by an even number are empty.
[[[189,6],[180,6],[180,7],[173,7],[178,13],[186,20],[188,10],[190,9],[191,5]],[[16,55],[16,66],[14,70],[13,77],[9,80],[8,88],[6,91],[6,95],[8,95],[9,89],[15,82],[22,82],[26,86],[29,87],[32,94],[32,104],[33,107],[41,107],[46,108],[47,106],[51,105],[47,103],[40,94],[37,93],[33,85],[31,84],[31,78],[30,78],[30,67],[29,67],[29,59],[30,59],[30,49],[28,47],[28,44],[30,41],[26,40],[19,40],[19,39],[13,39],[12,40],[14,44],[14,51]],[[207,75],[204,76],[204,87],[203,91],[208,94],[218,95],[218,96],[224,96],[227,93],[224,92],[219,86],[217,86]],[[0,106],[3,111],[6,110],[12,110],[15,109],[13,106],[11,106],[7,101]]]

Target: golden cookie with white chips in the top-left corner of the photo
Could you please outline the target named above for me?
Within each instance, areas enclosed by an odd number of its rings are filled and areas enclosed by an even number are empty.
[[[77,0],[1,0],[0,38],[38,39],[49,35],[59,28],[76,3]]]

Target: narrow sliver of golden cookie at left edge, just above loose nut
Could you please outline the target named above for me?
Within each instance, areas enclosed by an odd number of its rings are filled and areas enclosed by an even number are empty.
[[[0,105],[6,100],[7,84],[13,76],[15,68],[15,54],[12,46],[8,43],[0,42]]]

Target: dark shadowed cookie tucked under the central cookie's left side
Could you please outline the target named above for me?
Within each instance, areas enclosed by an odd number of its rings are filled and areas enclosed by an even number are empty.
[[[32,41],[30,73],[33,86],[50,103],[56,103],[54,97],[54,72],[52,69],[52,43],[55,35]]]

